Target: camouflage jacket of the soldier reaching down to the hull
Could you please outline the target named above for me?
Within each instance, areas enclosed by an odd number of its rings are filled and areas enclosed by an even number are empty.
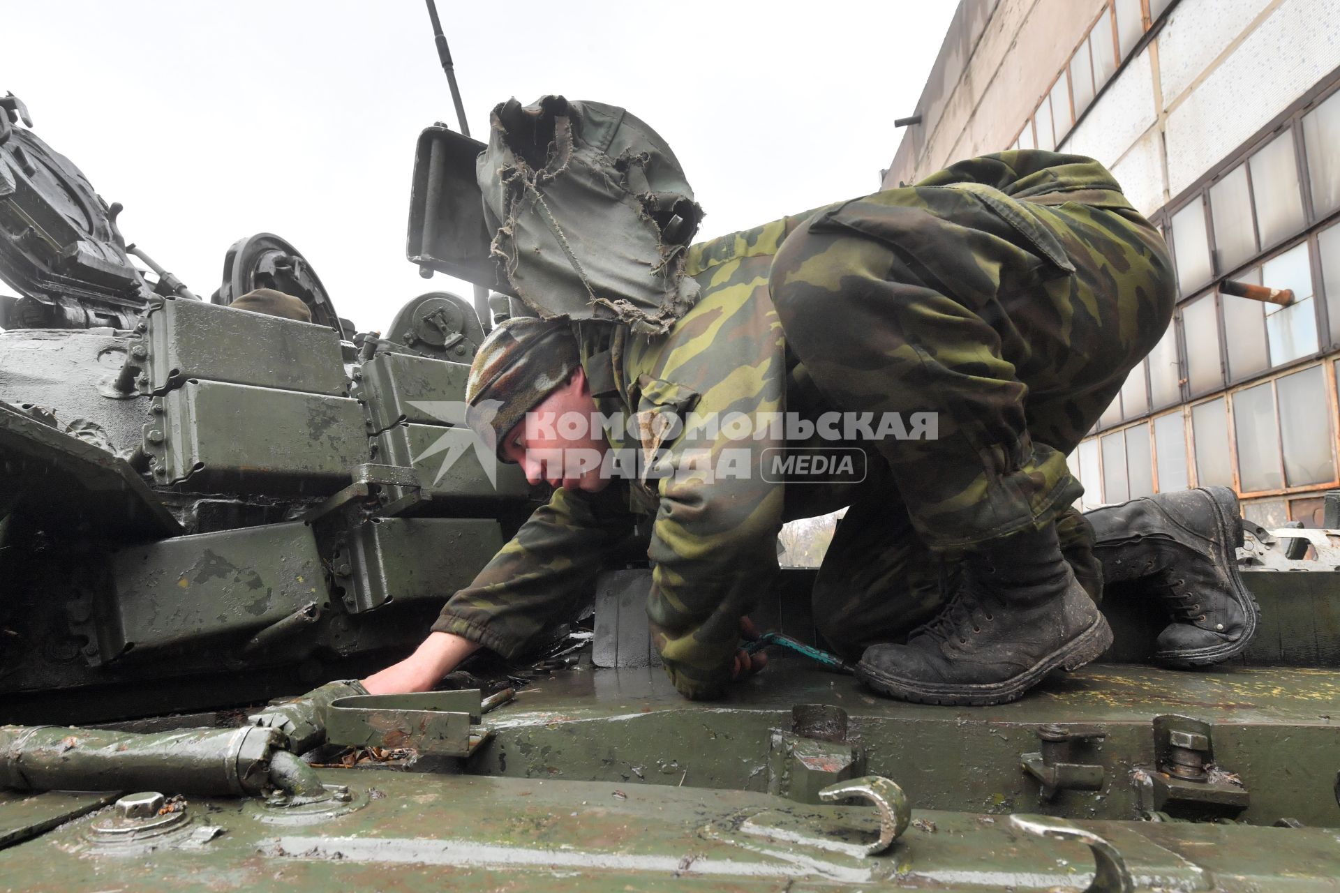
[[[974,161],[923,185],[980,182],[986,167]],[[1017,183],[986,185],[1026,197],[1116,189],[1096,163],[1087,170],[1089,179],[1076,182],[1044,169]],[[642,467],[627,486],[602,494],[556,491],[452,597],[434,631],[504,656],[524,652],[590,602],[596,574],[631,530],[632,507],[654,515],[647,616],[666,672],[689,698],[722,692],[740,619],[775,582],[783,522],[846,506],[859,486],[787,487],[766,474],[769,453],[797,446],[772,430],[769,414],[812,419],[829,408],[787,349],[768,292],[773,256],[813,213],[694,245],[687,261],[699,299],[662,337],[635,336],[618,324],[574,325],[600,412],[622,420],[607,426],[612,453]],[[740,430],[726,424],[732,414],[745,419],[740,439],[733,439]]]

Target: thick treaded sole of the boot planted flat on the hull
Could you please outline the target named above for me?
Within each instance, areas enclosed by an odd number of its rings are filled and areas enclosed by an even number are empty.
[[[1112,628],[1103,615],[1084,632],[1017,676],[986,684],[926,683],[883,673],[866,661],[856,664],[856,677],[875,691],[918,704],[989,707],[1018,700],[1053,669],[1072,672],[1096,660],[1112,644]]]

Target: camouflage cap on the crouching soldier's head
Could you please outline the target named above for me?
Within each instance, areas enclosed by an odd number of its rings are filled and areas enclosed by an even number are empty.
[[[465,382],[465,423],[501,462],[508,431],[572,375],[580,360],[567,323],[513,316],[480,344]]]

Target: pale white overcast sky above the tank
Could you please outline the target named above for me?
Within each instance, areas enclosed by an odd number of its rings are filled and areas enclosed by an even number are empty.
[[[878,189],[954,7],[438,0],[476,137],[508,96],[624,106],[674,147],[705,237]],[[197,295],[271,232],[359,329],[469,299],[405,260],[414,141],[456,126],[423,0],[0,0],[0,95]]]

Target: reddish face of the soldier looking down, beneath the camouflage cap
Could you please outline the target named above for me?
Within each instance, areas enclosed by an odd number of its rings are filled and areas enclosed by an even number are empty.
[[[521,466],[531,483],[599,493],[610,485],[602,474],[610,443],[595,414],[595,399],[579,367],[508,431],[503,454]]]

